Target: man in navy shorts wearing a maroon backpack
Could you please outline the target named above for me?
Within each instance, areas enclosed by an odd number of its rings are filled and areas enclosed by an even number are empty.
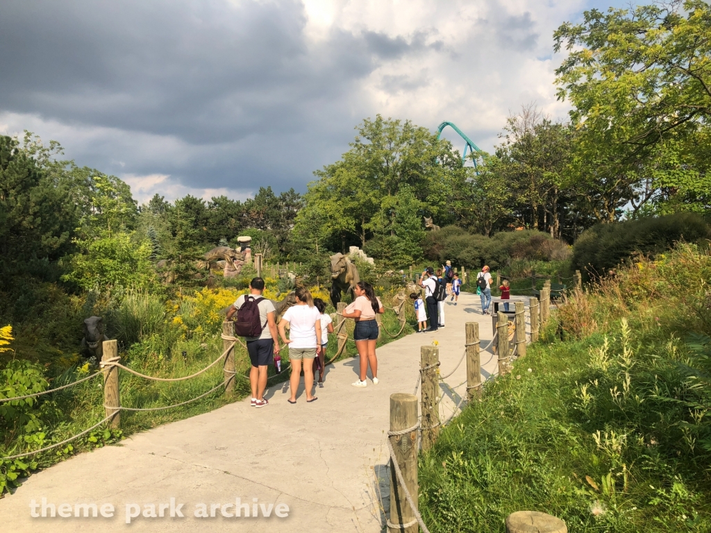
[[[235,335],[244,337],[247,352],[250,354],[250,387],[252,387],[252,406],[269,405],[264,399],[267,388],[267,367],[272,364],[272,353],[279,355],[279,333],[277,332],[276,309],[274,303],[262,297],[264,280],[252,278],[250,294],[242,294],[232,304],[227,313],[230,320],[237,313]]]

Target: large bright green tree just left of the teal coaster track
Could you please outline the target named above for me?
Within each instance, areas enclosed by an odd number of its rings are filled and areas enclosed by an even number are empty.
[[[432,215],[435,222],[452,217],[448,204],[464,171],[448,141],[410,121],[380,115],[356,130],[351,149],[341,161],[314,172],[319,179],[309,183],[305,195],[307,205],[326,217],[336,247],[345,249],[353,241],[364,246],[374,235],[397,231],[393,208],[410,205],[405,200],[410,195],[419,203],[418,216]],[[410,192],[397,199],[402,188]]]

